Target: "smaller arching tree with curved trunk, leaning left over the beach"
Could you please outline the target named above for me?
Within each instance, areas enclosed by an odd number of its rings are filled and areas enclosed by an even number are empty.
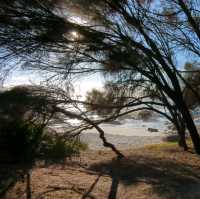
[[[179,135],[179,146],[188,150],[185,139],[185,124],[177,108],[172,106],[168,98],[148,81],[137,79],[129,85],[129,81],[108,82],[102,91],[93,89],[86,95],[85,107],[100,117],[114,115],[114,119],[122,113],[131,114],[138,111],[155,112],[172,123]]]

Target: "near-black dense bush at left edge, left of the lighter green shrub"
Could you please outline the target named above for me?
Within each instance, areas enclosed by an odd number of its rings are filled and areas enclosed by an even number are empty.
[[[23,121],[9,122],[1,129],[0,138],[13,160],[32,161],[41,142],[42,129]]]

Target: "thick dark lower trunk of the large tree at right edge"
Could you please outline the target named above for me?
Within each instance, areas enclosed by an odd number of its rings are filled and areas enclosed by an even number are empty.
[[[192,116],[187,108],[187,106],[185,105],[185,103],[181,103],[182,106],[181,108],[181,113],[183,116],[183,119],[186,123],[187,129],[190,133],[190,137],[192,139],[192,143],[194,145],[194,149],[196,151],[197,154],[200,154],[200,136],[198,134],[197,128],[194,124],[194,121],[192,119]],[[180,104],[179,104],[180,105]]]

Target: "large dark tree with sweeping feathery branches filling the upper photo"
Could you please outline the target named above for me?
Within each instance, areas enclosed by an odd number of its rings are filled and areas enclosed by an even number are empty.
[[[198,1],[5,2],[0,5],[2,73],[19,60],[23,68],[48,73],[48,83],[67,82],[69,88],[74,76],[101,72],[121,90],[114,112],[127,106],[159,112],[176,126],[183,145],[187,129],[200,153],[181,84],[199,95],[176,63],[180,53],[198,61]]]

